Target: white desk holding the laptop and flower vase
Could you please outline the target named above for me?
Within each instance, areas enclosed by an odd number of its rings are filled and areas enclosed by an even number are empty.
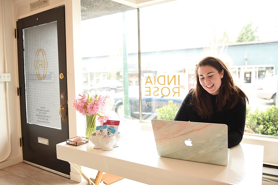
[[[259,184],[262,183],[264,147],[239,144],[231,148],[228,166],[160,157],[153,133],[122,131],[120,146],[110,151],[92,143],[56,145],[57,158],[145,184]],[[139,130],[139,129],[136,129]],[[138,132],[138,133],[137,133]],[[133,137],[138,134],[140,137]]]

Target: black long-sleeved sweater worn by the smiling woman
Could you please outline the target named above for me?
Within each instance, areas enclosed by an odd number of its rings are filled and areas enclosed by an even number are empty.
[[[189,91],[174,120],[226,124],[228,126],[228,148],[236,146],[241,142],[245,126],[246,103],[237,101],[234,108],[217,112],[215,110],[217,95],[210,95],[213,102],[213,116],[211,119],[202,119],[197,112],[193,110],[193,106],[190,105],[191,97],[192,93]]]

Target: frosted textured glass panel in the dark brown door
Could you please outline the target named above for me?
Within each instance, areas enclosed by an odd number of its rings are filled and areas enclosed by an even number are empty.
[[[61,129],[57,21],[23,29],[27,123]]]

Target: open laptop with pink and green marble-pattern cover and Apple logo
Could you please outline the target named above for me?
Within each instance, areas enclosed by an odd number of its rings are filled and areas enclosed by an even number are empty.
[[[208,164],[228,165],[228,126],[152,119],[158,155]]]

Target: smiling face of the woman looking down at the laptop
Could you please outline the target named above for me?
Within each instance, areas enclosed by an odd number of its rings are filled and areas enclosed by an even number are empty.
[[[202,87],[211,95],[218,95],[224,70],[219,73],[212,66],[200,66],[198,69],[199,81]]]

